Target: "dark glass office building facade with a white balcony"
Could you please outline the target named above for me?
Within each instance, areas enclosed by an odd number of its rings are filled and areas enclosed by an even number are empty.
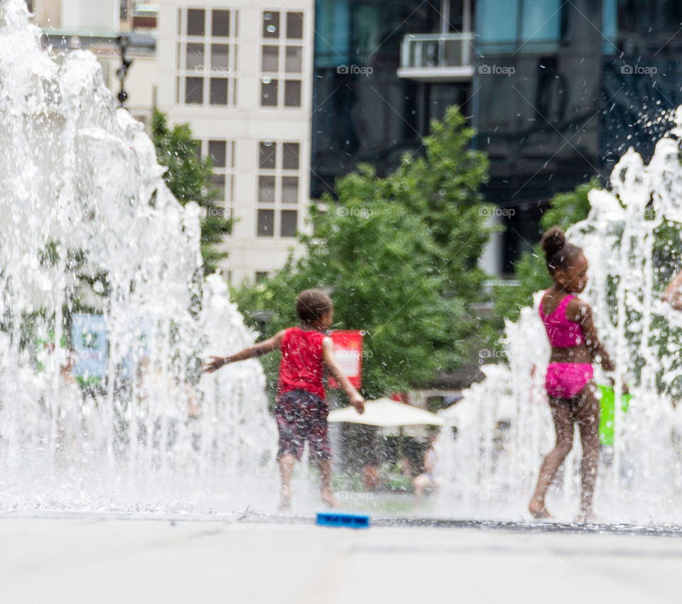
[[[485,268],[509,275],[553,194],[605,180],[628,145],[646,157],[669,126],[666,111],[682,101],[680,6],[319,0],[313,197],[359,162],[391,172],[458,104],[490,158],[482,192],[507,209]]]

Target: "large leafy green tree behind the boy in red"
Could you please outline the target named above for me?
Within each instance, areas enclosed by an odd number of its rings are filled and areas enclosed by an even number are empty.
[[[296,295],[320,287],[332,291],[335,329],[367,332],[369,397],[428,383],[470,358],[478,326],[470,304],[481,300],[485,277],[475,261],[490,229],[476,192],[487,161],[468,148],[472,131],[462,123],[451,109],[432,124],[421,157],[406,155],[386,178],[360,166],[337,182],[326,212],[311,207],[305,256],[234,292],[247,317],[271,314],[265,325],[252,319],[264,336],[296,324]],[[277,363],[264,361],[273,388]]]

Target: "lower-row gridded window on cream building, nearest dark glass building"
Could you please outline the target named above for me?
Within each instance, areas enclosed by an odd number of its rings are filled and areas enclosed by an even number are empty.
[[[301,195],[301,143],[260,141],[257,235],[295,237]]]

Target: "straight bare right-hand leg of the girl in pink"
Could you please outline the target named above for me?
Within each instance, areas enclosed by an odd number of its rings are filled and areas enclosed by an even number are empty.
[[[597,468],[599,465],[599,401],[592,384],[583,390],[583,401],[577,417],[580,442],[583,444],[583,462],[580,464],[580,522],[592,520],[592,497],[595,494]]]

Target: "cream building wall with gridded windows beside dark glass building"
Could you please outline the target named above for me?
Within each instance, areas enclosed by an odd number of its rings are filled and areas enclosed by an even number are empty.
[[[224,243],[229,258],[222,268],[234,284],[244,279],[254,280],[256,273],[281,267],[290,250],[297,254],[302,252],[296,238],[283,236],[282,228],[283,221],[293,216],[286,212],[298,212],[298,230],[305,231],[310,203],[313,0],[237,0],[229,3],[224,0],[161,0],[158,4],[158,107],[168,113],[171,123],[190,122],[195,137],[202,141],[203,153],[208,153],[209,141],[227,141],[226,166],[224,169],[217,167],[215,171],[219,178],[224,172],[227,185],[224,207],[237,219],[237,223],[232,236]],[[206,11],[203,35],[190,35],[188,9]],[[227,38],[212,36],[213,10],[231,11]],[[279,28],[275,28],[278,37],[266,36],[264,12],[278,13]],[[287,37],[288,12],[303,13],[301,39]],[[193,17],[197,14],[192,13]],[[274,19],[269,23],[271,21]],[[294,21],[295,18],[292,23]],[[195,34],[198,31],[196,27],[193,30]],[[212,45],[229,45],[229,52],[221,55],[215,65],[210,53]],[[264,46],[271,48],[266,52]],[[272,53],[274,46],[278,47],[279,70],[264,71],[264,52]],[[303,53],[301,72],[287,71],[286,67],[296,69],[298,48]],[[288,53],[292,53],[291,62],[286,60]],[[266,60],[265,66],[271,68],[274,63]],[[200,78],[202,88],[193,84]],[[261,85],[268,78],[270,82],[278,81],[276,106],[261,104]],[[229,82],[227,104],[222,102],[222,92],[215,97],[219,104],[212,104],[207,99],[212,79],[227,79]],[[301,106],[285,105],[285,80],[300,82]],[[199,89],[202,90],[202,102],[188,102],[188,91],[193,91],[190,97],[196,101],[197,97],[193,95],[200,94],[197,92]],[[272,98],[270,95],[269,99]],[[261,143],[276,145],[274,168],[261,167]],[[286,157],[290,162],[288,169],[283,166],[285,143]],[[295,145],[298,145],[298,167],[294,169],[291,168],[291,158]],[[231,147],[234,148],[234,160],[229,157]],[[269,148],[264,147],[266,150]],[[266,185],[272,179],[276,183],[276,194],[271,202],[267,202],[264,201],[269,197],[269,186]],[[296,194],[291,187],[295,179],[298,179]],[[264,183],[263,187],[259,187],[259,182]],[[259,234],[259,210],[274,214],[271,236],[265,236],[263,231]]]

